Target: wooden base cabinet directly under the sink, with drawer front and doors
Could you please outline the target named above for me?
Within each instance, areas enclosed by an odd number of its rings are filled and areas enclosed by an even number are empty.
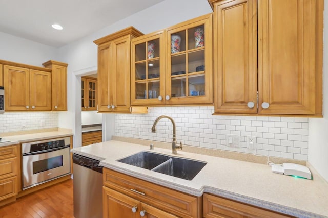
[[[103,173],[104,217],[201,217],[201,197],[107,168]]]

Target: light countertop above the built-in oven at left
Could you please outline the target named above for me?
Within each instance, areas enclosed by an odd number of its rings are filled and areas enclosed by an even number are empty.
[[[45,130],[41,132],[33,132],[30,133],[15,133],[15,134],[6,134],[3,133],[0,135],[1,138],[5,140],[9,140],[9,142],[0,143],[0,147],[2,146],[10,146],[12,144],[25,143],[29,141],[39,141],[45,140],[49,138],[58,138],[58,137],[66,137],[73,135],[72,130],[70,129],[62,129],[62,128],[54,128],[52,130]]]

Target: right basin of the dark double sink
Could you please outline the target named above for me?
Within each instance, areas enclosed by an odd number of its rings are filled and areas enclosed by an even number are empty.
[[[192,180],[206,164],[206,162],[197,160],[171,157],[169,160],[153,168],[152,171],[181,179]]]

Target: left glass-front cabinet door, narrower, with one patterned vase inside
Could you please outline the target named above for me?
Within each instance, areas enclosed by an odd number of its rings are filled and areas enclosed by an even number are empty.
[[[165,104],[163,31],[132,40],[131,105]]]

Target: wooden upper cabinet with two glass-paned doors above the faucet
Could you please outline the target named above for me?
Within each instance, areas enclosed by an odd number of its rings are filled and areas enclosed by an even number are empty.
[[[213,103],[212,14],[132,40],[132,105]]]

